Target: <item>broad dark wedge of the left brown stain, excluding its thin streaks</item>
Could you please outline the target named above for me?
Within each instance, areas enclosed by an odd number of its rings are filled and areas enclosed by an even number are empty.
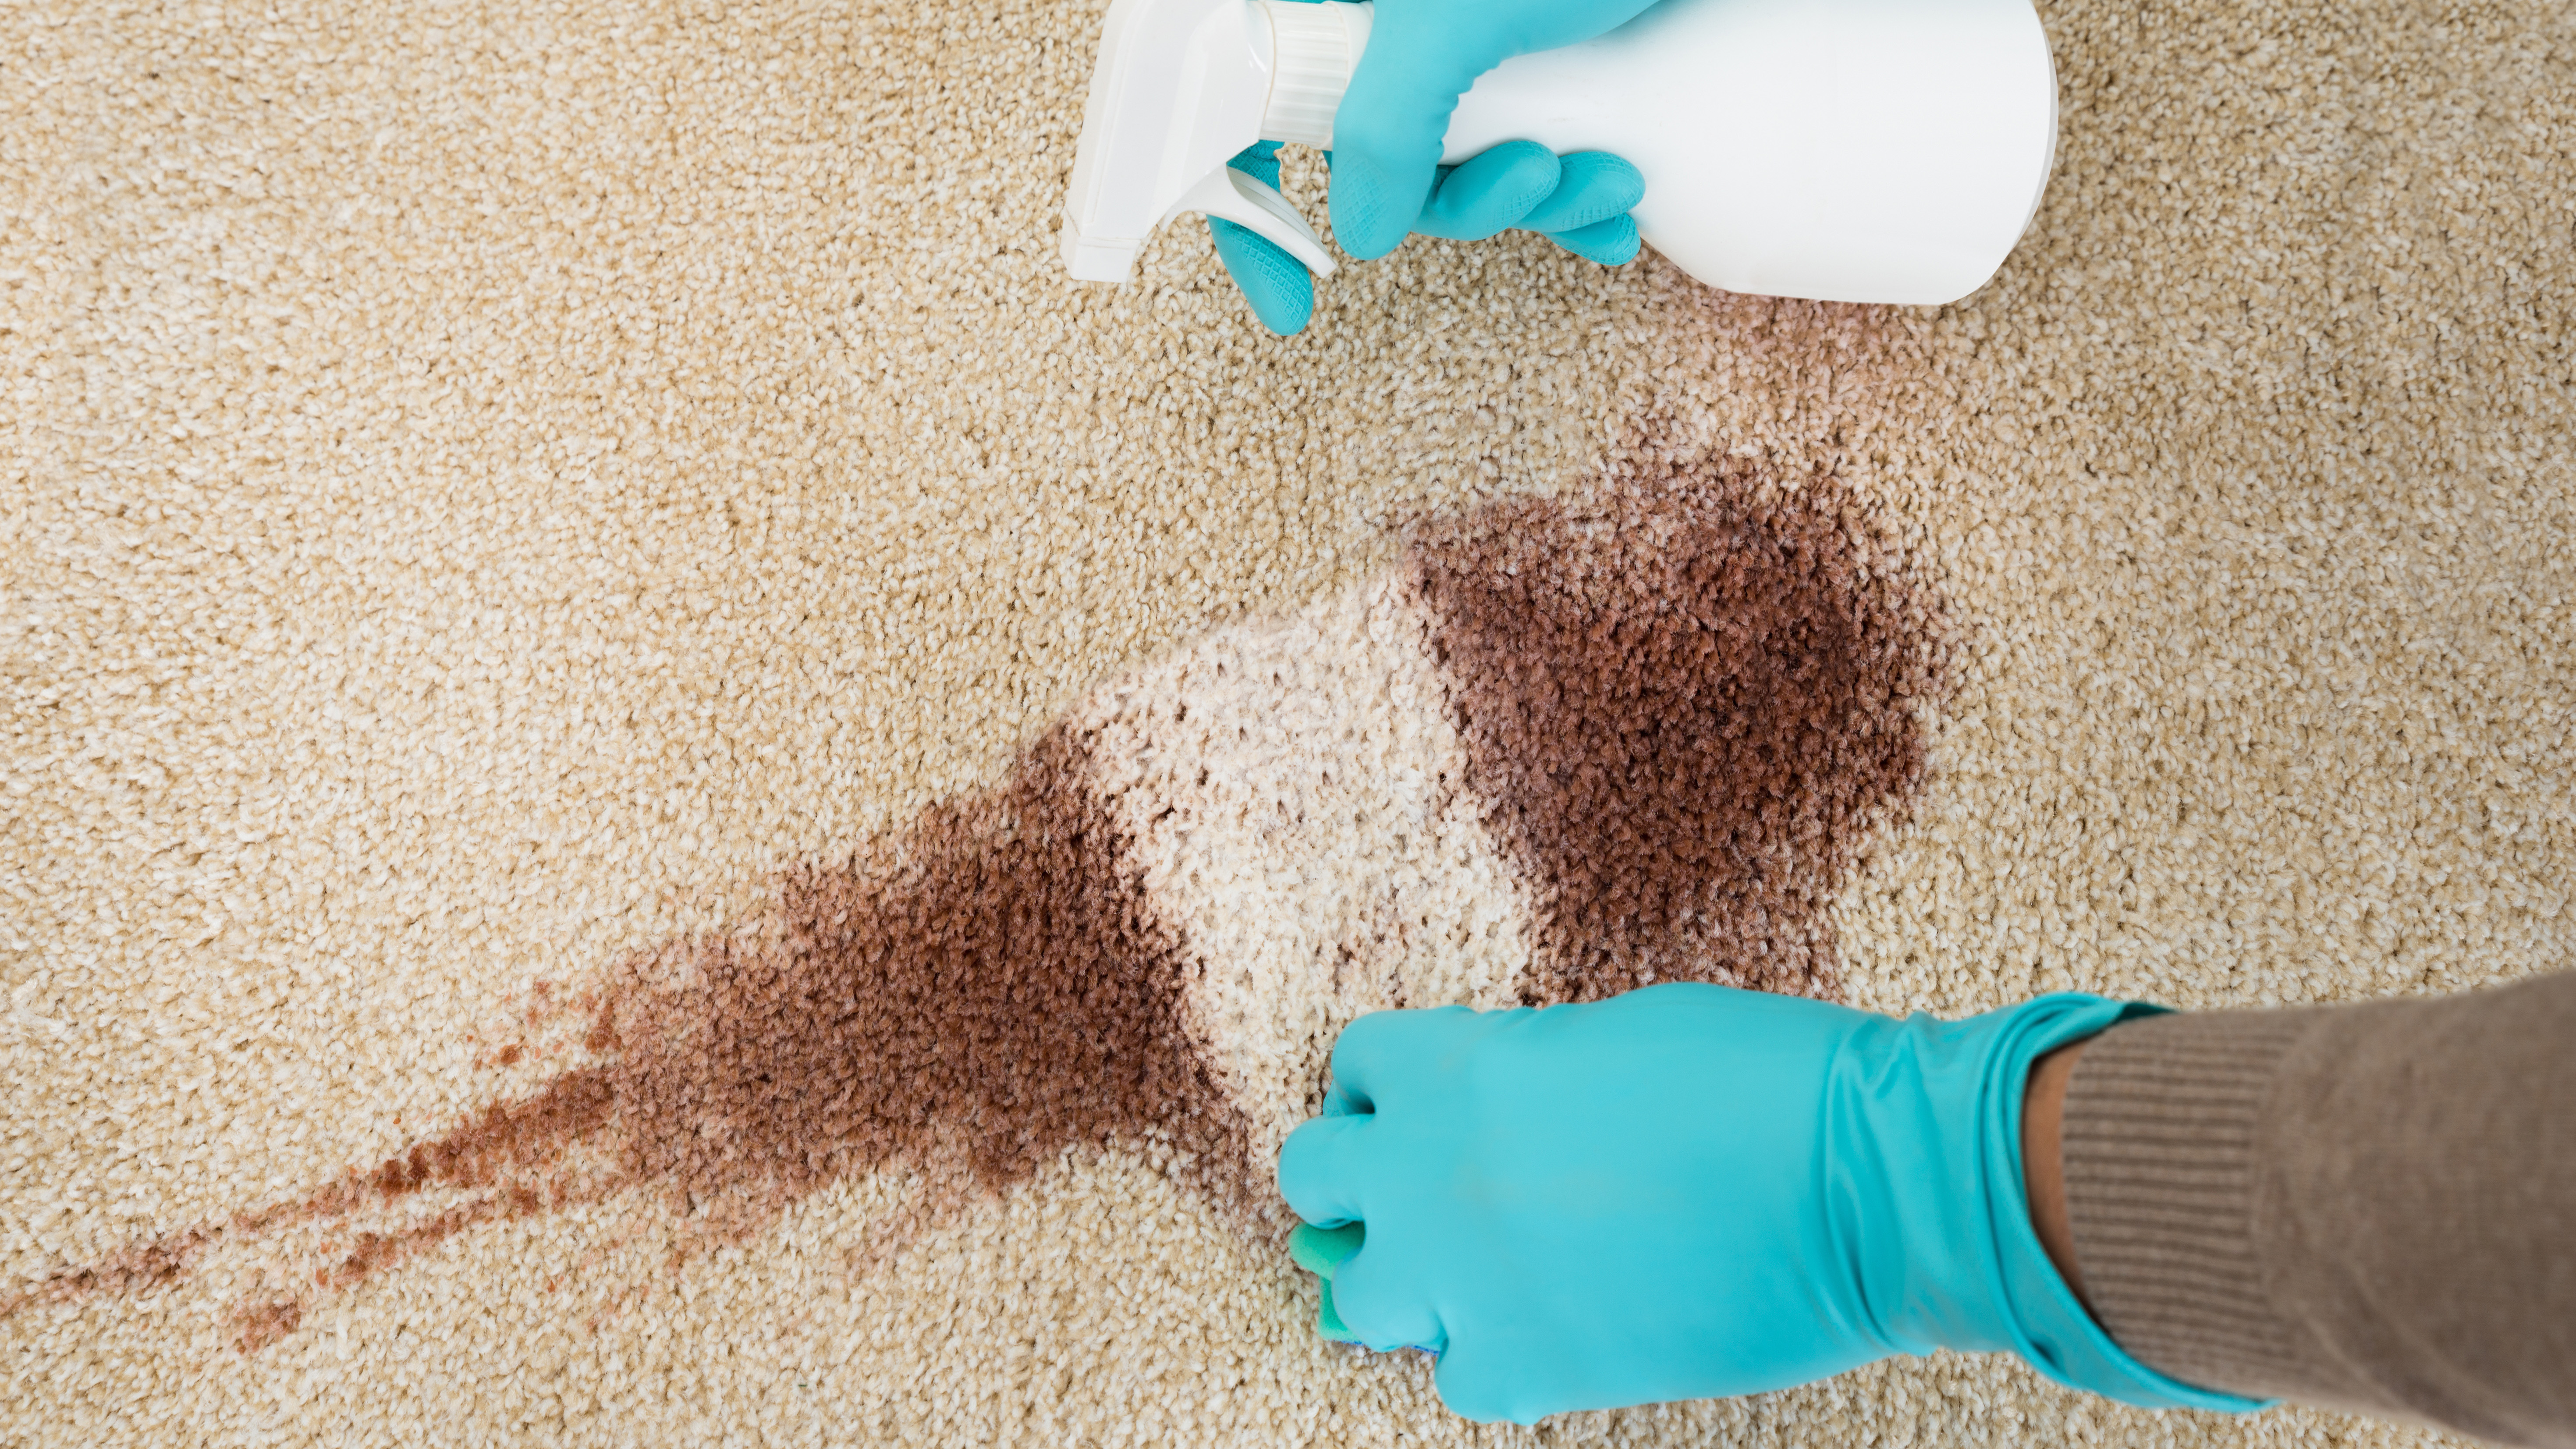
[[[1242,1181],[1244,1124],[1182,1016],[1188,959],[1128,841],[1043,737],[997,797],[925,815],[876,869],[788,879],[775,938],[724,938],[670,1011],[626,993],[629,1173],[773,1209],[896,1158],[958,1155],[981,1189],[1069,1145],[1128,1145]]]

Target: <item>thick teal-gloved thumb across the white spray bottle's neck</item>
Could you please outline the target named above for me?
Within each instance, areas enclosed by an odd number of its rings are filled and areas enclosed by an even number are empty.
[[[1414,229],[1432,193],[1450,111],[1502,52],[1427,5],[1378,8],[1368,49],[1332,113],[1332,237],[1376,260]]]

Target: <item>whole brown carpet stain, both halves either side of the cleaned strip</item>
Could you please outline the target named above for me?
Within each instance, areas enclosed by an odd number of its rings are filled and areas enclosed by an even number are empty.
[[[1649,980],[1829,993],[1824,908],[1922,781],[1940,678],[1924,590],[1832,477],[1628,469],[1577,503],[1417,529],[1450,717],[1540,908],[1525,998]],[[1249,1191],[1247,1124],[1193,1039],[1198,964],[1059,727],[1010,784],[783,877],[739,931],[618,964],[538,1016],[595,1057],[299,1199],[70,1266],[15,1297],[149,1292],[227,1240],[319,1225],[234,1343],[477,1225],[662,1191],[688,1240],[742,1240],[842,1178],[909,1165],[938,1220],[1069,1147],[1123,1147],[1208,1199]],[[505,1047],[487,1062],[510,1062]],[[430,1194],[430,1196],[422,1196]]]

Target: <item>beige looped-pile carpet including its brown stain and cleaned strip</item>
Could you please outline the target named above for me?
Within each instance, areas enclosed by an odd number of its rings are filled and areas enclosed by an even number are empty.
[[[1273,340],[1064,284],[1097,10],[0,10],[0,1444],[2419,1439],[1473,1431],[1267,1152],[1370,1006],[2566,962],[2571,13],[2048,5],[1942,312]]]

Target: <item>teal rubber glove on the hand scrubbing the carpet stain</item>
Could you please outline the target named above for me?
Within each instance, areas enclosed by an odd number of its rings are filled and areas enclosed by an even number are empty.
[[[1381,1011],[1280,1150],[1319,1328],[1440,1354],[1450,1410],[1749,1395],[1888,1354],[2014,1351],[2146,1408],[2254,1400],[2138,1364],[2048,1263],[2022,1093],[2156,1008],[2045,995],[1968,1021],[1718,985],[1543,1011]]]

